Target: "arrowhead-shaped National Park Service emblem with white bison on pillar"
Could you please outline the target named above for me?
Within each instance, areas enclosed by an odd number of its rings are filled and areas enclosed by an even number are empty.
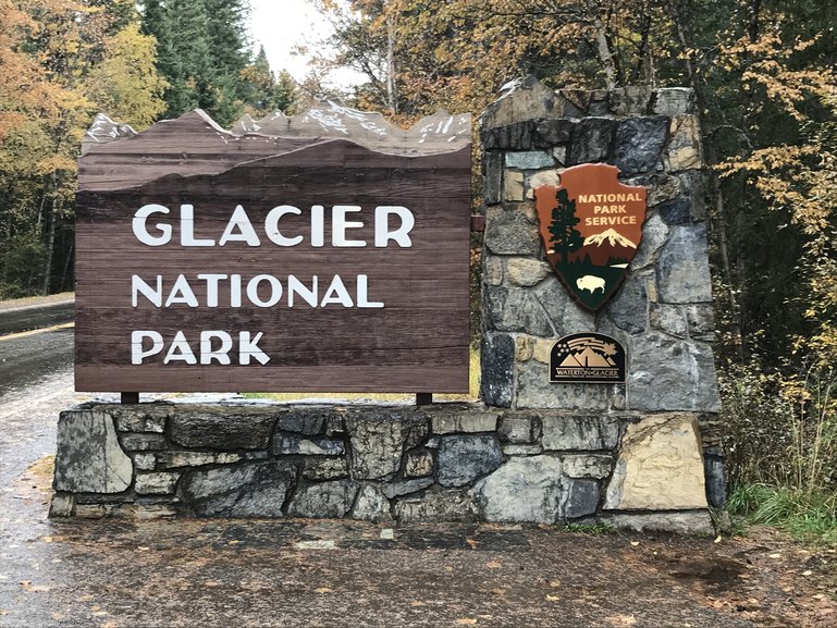
[[[546,259],[573,297],[598,311],[613,298],[637,255],[647,192],[619,183],[619,169],[584,163],[561,172],[561,185],[534,190]]]

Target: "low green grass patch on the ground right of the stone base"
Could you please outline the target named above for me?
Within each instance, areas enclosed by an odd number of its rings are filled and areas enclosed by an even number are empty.
[[[804,541],[837,543],[837,495],[765,484],[741,484],[727,502],[746,522],[775,526]]]

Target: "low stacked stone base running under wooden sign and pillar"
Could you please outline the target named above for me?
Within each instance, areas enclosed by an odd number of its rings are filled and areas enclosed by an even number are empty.
[[[52,516],[593,524],[711,532],[691,414],[87,404]]]

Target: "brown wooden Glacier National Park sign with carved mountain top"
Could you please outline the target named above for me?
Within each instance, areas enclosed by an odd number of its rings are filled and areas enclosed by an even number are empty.
[[[429,144],[196,112],[90,148],[76,390],[466,392],[470,146]]]

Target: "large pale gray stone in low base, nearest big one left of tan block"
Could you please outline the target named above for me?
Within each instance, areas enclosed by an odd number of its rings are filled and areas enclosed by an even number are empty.
[[[512,458],[471,490],[485,520],[533,524],[561,519],[562,493],[561,460],[544,455]]]

